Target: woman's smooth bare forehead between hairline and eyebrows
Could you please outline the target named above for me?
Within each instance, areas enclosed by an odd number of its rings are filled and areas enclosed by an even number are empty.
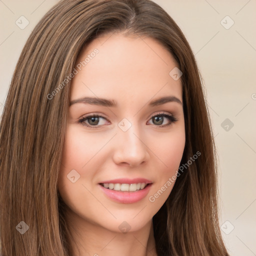
[[[149,100],[166,94],[182,98],[181,80],[169,75],[176,66],[170,52],[152,38],[108,34],[94,39],[79,54],[71,99]]]

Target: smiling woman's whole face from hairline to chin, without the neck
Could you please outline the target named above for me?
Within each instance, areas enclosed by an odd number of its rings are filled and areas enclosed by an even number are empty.
[[[106,35],[80,53],[58,179],[79,228],[138,230],[170,194],[185,144],[176,66],[148,37]]]

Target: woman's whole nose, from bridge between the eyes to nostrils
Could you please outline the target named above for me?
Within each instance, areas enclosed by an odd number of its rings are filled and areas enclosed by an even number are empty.
[[[137,165],[148,159],[147,147],[141,137],[142,131],[138,123],[123,118],[118,123],[117,144],[114,152],[114,161],[116,163],[128,163]]]

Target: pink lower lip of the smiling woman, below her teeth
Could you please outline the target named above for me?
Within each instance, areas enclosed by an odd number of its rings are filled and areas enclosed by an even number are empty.
[[[137,191],[116,191],[113,189],[107,189],[101,185],[100,188],[102,191],[112,200],[116,202],[121,202],[121,203],[133,203],[140,201],[143,199],[147,194],[148,191],[151,187],[152,183],[148,184],[146,187],[143,189],[137,190]]]

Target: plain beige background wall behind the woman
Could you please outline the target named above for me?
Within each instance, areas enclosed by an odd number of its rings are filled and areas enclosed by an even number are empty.
[[[220,225],[226,246],[232,256],[256,255],[256,1],[154,1],[184,32],[204,79],[219,155]],[[56,2],[0,0],[0,113],[29,33]],[[15,24],[21,15],[29,21],[24,29]]]

